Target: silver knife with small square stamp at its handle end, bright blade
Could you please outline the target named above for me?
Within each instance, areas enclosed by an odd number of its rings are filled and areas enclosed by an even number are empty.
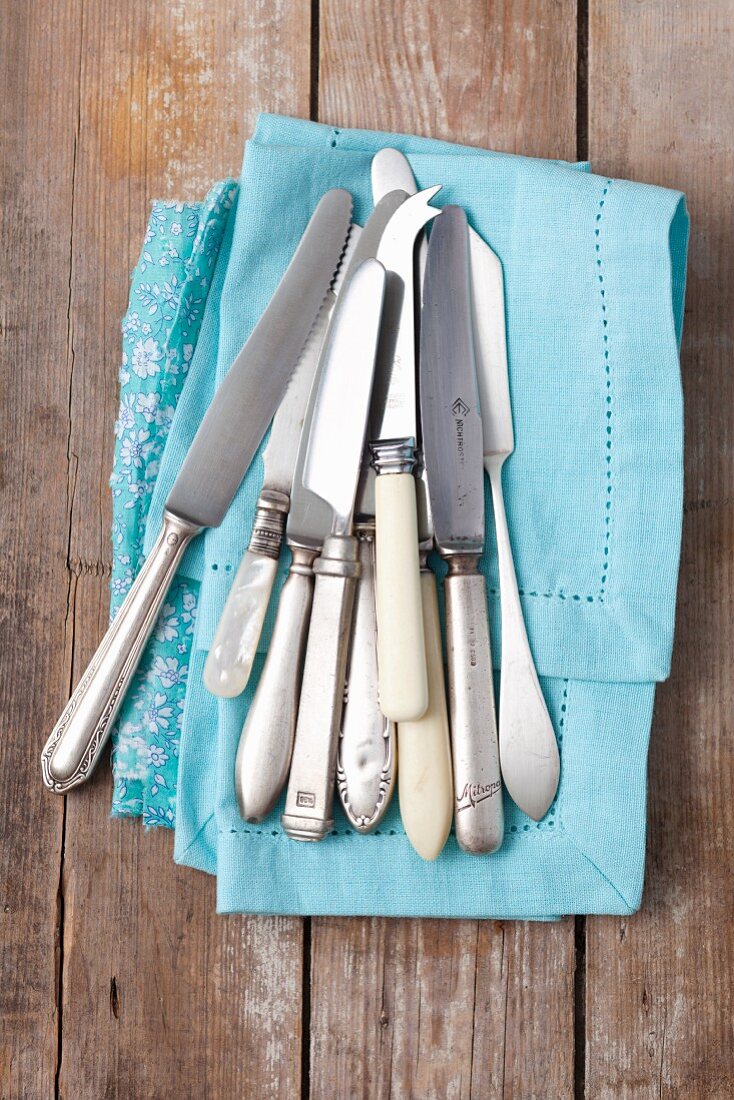
[[[320,840],[333,826],[337,740],[354,582],[360,570],[352,516],[384,289],[382,264],[365,260],[340,296],[329,329],[304,466],[304,485],[331,509],[331,534],[314,564],[314,604],[282,817],[285,833],[298,840]]]

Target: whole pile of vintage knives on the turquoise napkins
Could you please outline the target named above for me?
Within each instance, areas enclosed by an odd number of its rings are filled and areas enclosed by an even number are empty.
[[[250,544],[204,673],[219,696],[247,686],[285,536],[291,566],[237,755],[242,816],[262,821],[287,784],[284,832],[320,840],[338,789],[366,833],[397,780],[406,834],[435,859],[452,822],[465,851],[500,847],[503,781],[534,820],[552,803],[558,748],[502,496],[514,449],[502,267],[460,207],[430,205],[440,187],[417,191],[396,150],[374,157],[372,190],[364,229],[348,193],[324,196],[218,388],[158,540],[44,747],[51,790],[90,774],[186,546],[222,521],[272,420]],[[479,571],[485,470],[499,735]],[[434,550],[448,569],[448,704]]]

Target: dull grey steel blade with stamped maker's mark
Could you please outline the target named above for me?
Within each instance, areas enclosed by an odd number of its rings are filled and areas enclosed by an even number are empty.
[[[482,420],[474,361],[467,217],[446,207],[428,245],[420,337],[420,413],[436,541],[484,544]]]

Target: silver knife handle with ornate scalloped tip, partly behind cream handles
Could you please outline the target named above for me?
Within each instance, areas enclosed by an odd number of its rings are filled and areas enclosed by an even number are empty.
[[[359,833],[376,828],[395,787],[395,724],[380,710],[377,624],[374,606],[374,525],[358,529],[357,582],[347,671],[347,692],[337,754],[337,789]]]

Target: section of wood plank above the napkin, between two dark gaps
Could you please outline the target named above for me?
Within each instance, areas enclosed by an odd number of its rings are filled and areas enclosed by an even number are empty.
[[[574,0],[321,0],[319,119],[576,157]]]

